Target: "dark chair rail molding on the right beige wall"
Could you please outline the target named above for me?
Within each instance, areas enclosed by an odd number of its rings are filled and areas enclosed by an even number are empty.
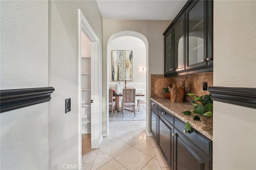
[[[212,100],[256,109],[256,88],[208,87]]]

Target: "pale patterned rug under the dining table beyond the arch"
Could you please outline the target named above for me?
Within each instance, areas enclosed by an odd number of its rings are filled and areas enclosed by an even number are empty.
[[[120,106],[122,108],[122,106]],[[121,109],[122,110],[122,109]],[[124,117],[122,111],[113,113],[111,116],[111,111],[109,112],[109,121],[146,121],[146,104],[140,105],[140,111],[137,109],[134,117],[134,113],[128,110],[124,110]]]

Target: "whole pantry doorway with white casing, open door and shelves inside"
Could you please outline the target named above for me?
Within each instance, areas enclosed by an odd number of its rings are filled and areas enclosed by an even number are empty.
[[[82,160],[82,133],[91,133],[91,148],[102,140],[102,61],[100,42],[78,9],[78,163]]]

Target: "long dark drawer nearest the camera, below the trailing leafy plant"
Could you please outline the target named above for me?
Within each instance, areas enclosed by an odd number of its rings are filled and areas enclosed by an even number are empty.
[[[178,118],[174,118],[174,126],[183,133],[185,123]],[[194,129],[191,129],[192,133],[184,134],[194,145],[196,145],[204,154],[209,158],[212,158],[212,141],[197,132]]]

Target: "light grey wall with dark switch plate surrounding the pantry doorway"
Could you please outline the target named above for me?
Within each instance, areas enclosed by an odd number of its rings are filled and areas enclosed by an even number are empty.
[[[79,162],[78,8],[102,43],[102,17],[96,1],[49,1],[49,84],[55,88],[49,104],[50,169],[62,169],[62,164]],[[98,65],[98,97],[101,99],[102,60]],[[67,98],[71,98],[71,111],[65,114]],[[102,106],[98,108],[101,111]]]

